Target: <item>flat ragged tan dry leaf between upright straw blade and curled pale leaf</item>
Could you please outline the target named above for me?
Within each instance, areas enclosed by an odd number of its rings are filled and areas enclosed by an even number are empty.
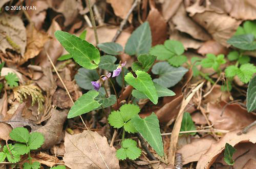
[[[196,138],[190,144],[183,146],[177,153],[182,154],[183,165],[185,165],[189,162],[198,161],[201,155],[206,153],[211,144],[215,142],[216,140],[212,137]]]

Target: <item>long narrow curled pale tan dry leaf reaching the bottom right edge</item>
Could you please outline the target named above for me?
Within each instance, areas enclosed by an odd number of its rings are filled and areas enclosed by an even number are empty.
[[[234,130],[222,137],[219,142],[212,144],[210,149],[201,156],[197,163],[197,169],[209,169],[211,164],[217,159],[219,154],[224,151],[226,143],[236,146],[239,143],[256,143],[256,127],[251,128],[246,134],[237,135],[240,130]]]

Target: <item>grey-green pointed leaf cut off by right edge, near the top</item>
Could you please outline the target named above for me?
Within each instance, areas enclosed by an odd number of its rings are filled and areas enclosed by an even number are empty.
[[[256,42],[254,41],[253,34],[244,34],[233,36],[227,40],[227,43],[230,45],[243,49],[243,50],[255,50],[256,49]]]

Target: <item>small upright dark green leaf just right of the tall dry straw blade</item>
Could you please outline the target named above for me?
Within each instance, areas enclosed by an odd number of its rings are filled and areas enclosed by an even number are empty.
[[[181,128],[180,131],[191,131],[196,130],[196,126],[188,112],[184,112],[183,119],[181,122]],[[188,133],[190,135],[195,135],[196,132]]]

